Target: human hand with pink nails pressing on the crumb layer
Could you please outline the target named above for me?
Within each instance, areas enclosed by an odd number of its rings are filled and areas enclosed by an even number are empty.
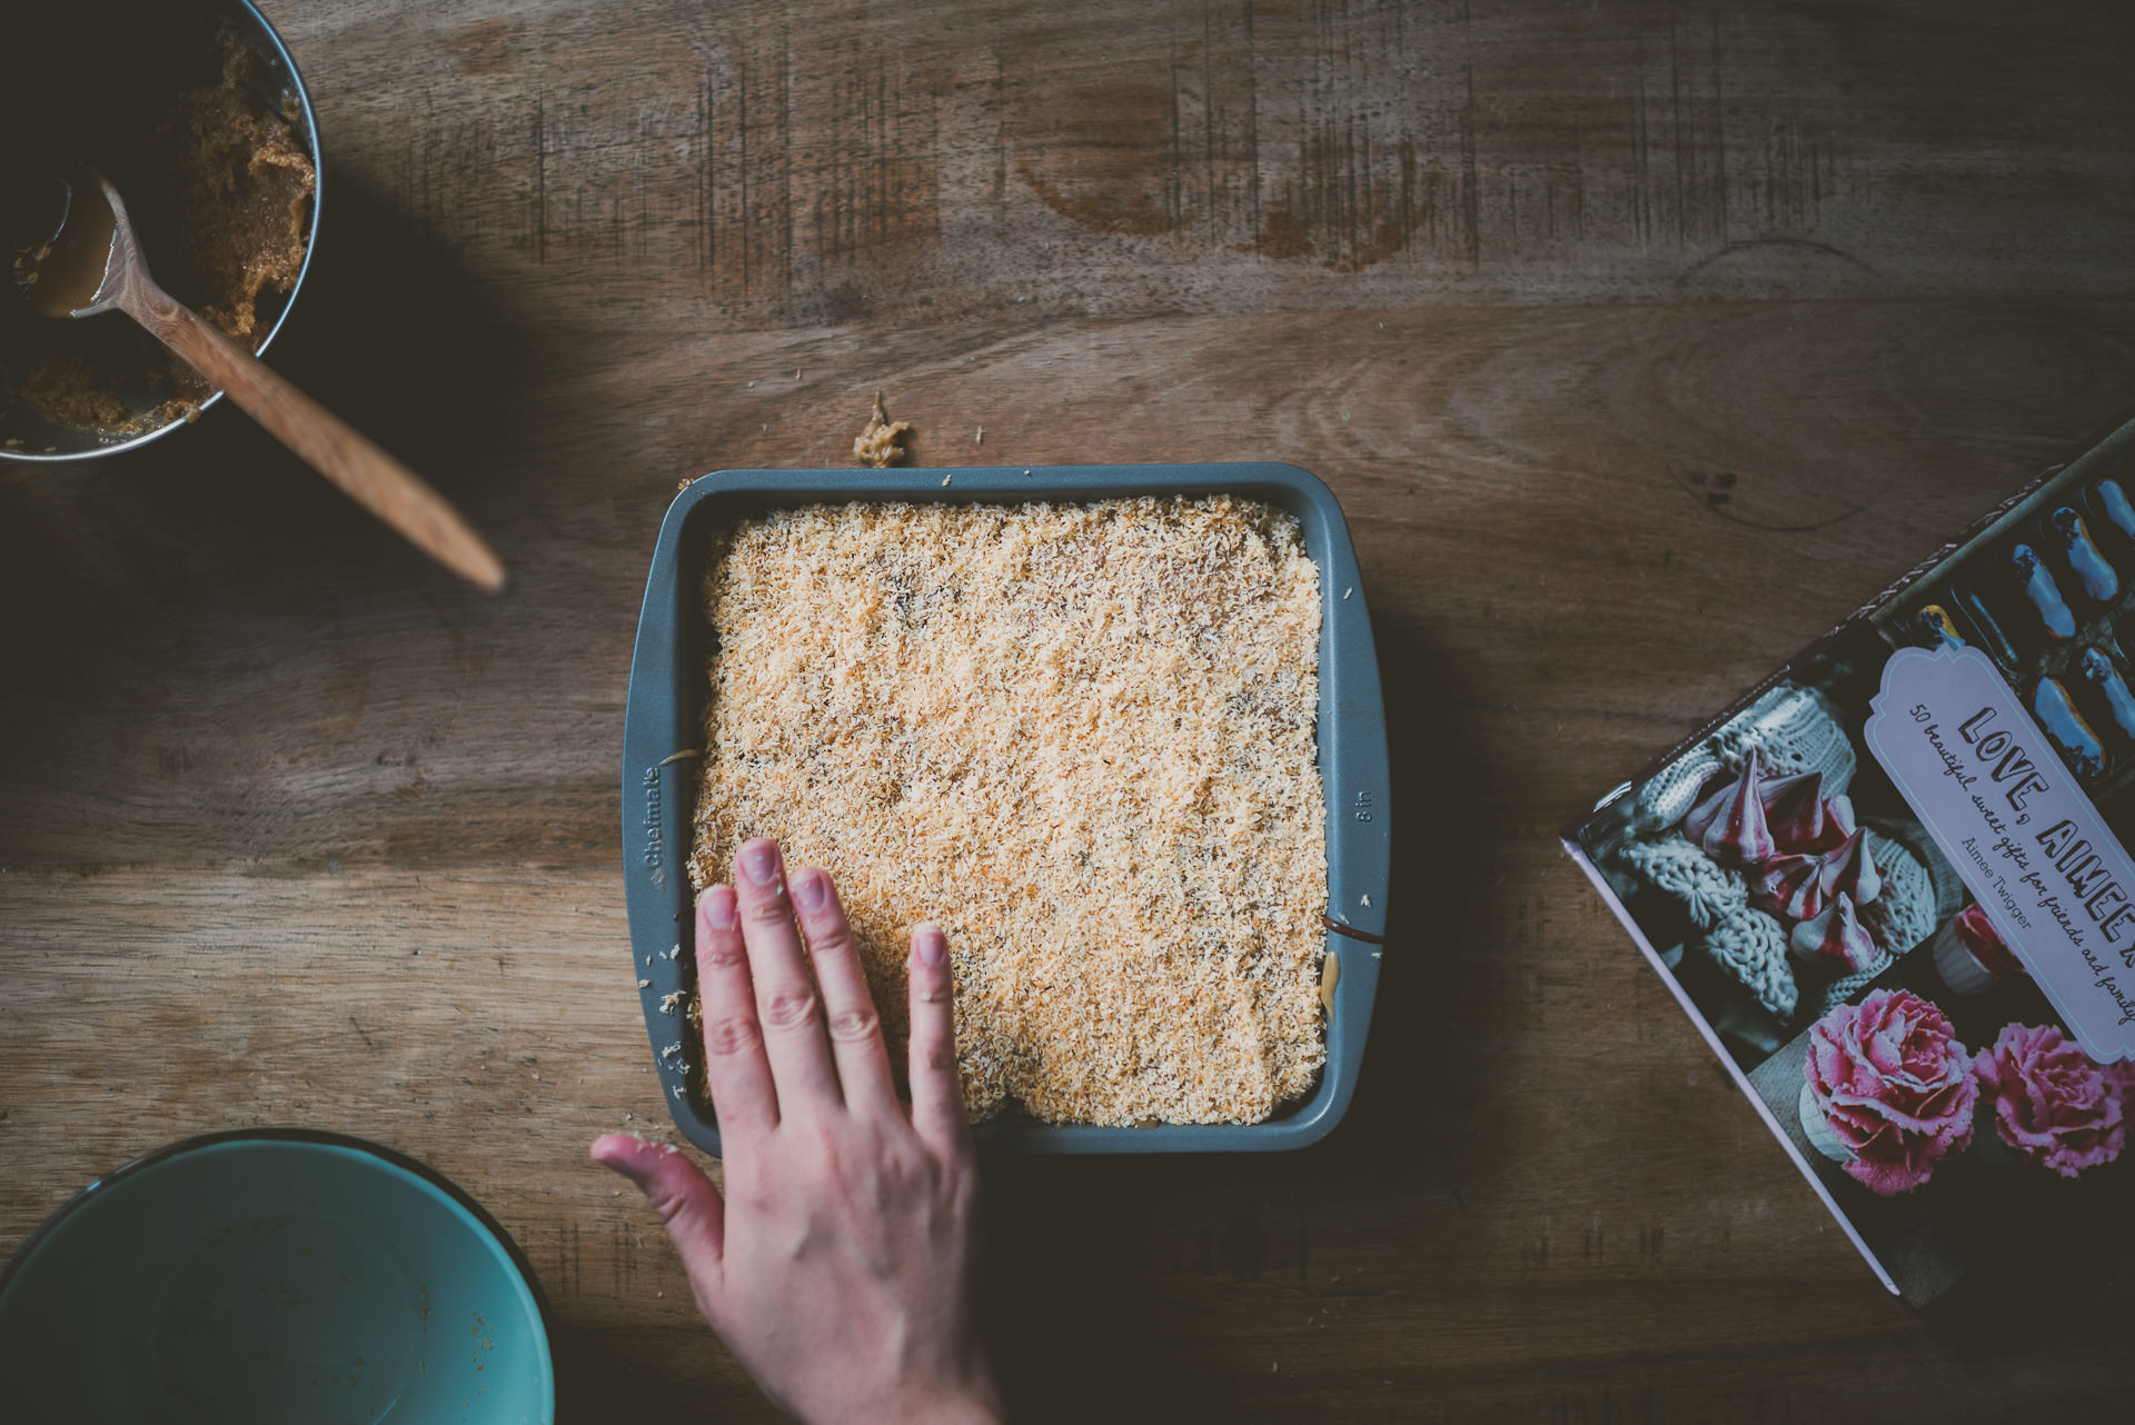
[[[726,1197],[687,1156],[628,1135],[598,1139],[594,1160],[638,1184],[705,1320],[784,1410],[999,1421],[974,1320],[978,1167],[942,928],[912,936],[905,1105],[831,875],[796,870],[788,890],[777,843],[752,840],[734,887],[696,902]]]

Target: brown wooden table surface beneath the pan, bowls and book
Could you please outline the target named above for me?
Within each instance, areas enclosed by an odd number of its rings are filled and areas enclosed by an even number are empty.
[[[329,151],[275,365],[517,582],[231,410],[0,469],[0,1252],[339,1128],[515,1233],[564,1419],[771,1419],[585,1160],[664,1126],[623,683],[677,480],[848,463],[880,386],[924,465],[1317,471],[1388,672],[1356,1107],[989,1163],[1027,1419],[2126,1419],[2124,1233],[2105,1310],[1885,1297],[1554,832],[2129,403],[2129,6],[271,11]]]

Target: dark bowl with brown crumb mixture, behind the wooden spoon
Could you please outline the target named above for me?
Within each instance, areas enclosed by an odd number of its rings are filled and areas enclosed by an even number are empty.
[[[6,177],[100,169],[132,213],[158,282],[258,350],[303,271],[318,173],[292,94],[231,23],[179,6],[53,6],[13,28],[19,53],[66,51],[102,21],[120,38],[92,94],[30,68],[0,90]],[[105,94],[96,102],[96,94]],[[9,254],[15,256],[15,254]],[[0,290],[0,442],[41,448],[53,429],[98,442],[199,414],[213,388],[120,318],[38,318]]]

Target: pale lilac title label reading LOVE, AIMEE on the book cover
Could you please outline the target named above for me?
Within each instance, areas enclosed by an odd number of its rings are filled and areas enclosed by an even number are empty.
[[[2135,862],[1979,649],[1900,649],[1862,734],[2090,1058],[2135,1056]]]

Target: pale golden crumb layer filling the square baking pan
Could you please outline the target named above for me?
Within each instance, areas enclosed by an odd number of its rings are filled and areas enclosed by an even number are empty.
[[[781,510],[715,535],[705,599],[690,877],[749,836],[828,866],[892,1062],[937,919],[974,1118],[1255,1122],[1313,1086],[1319,572],[1294,518]]]

